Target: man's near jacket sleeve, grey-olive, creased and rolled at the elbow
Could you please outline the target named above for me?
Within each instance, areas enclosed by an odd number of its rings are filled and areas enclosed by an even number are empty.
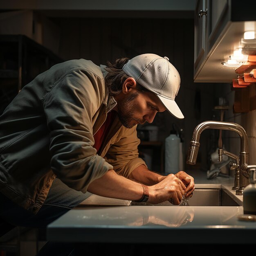
[[[72,70],[43,99],[52,171],[67,186],[83,192],[113,168],[93,148],[92,118],[104,97],[102,79],[87,70]]]

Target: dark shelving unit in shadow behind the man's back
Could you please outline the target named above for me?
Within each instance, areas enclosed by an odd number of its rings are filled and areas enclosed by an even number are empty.
[[[0,35],[0,114],[21,88],[63,60],[24,35]]]

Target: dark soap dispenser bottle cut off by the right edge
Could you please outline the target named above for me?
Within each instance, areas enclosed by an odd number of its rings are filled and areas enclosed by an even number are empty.
[[[250,170],[250,183],[243,191],[244,214],[256,214],[256,165],[247,167]]]

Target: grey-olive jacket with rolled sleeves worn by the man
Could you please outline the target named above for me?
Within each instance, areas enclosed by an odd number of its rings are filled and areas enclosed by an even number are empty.
[[[105,66],[79,59],[54,65],[24,86],[0,116],[0,192],[37,213],[57,176],[86,192],[114,169],[128,175],[138,157],[136,126],[116,118],[99,155],[93,135],[117,104],[105,88]]]

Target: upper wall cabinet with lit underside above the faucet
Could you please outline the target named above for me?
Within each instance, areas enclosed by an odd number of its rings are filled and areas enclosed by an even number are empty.
[[[229,56],[242,48],[244,32],[256,29],[255,1],[198,0],[195,6],[194,81],[231,83],[234,66],[225,66]],[[250,42],[253,43],[253,42]],[[250,45],[252,48],[252,44]],[[256,47],[256,43],[253,45]],[[255,48],[256,49],[256,48]],[[255,54],[251,49],[249,54]]]

